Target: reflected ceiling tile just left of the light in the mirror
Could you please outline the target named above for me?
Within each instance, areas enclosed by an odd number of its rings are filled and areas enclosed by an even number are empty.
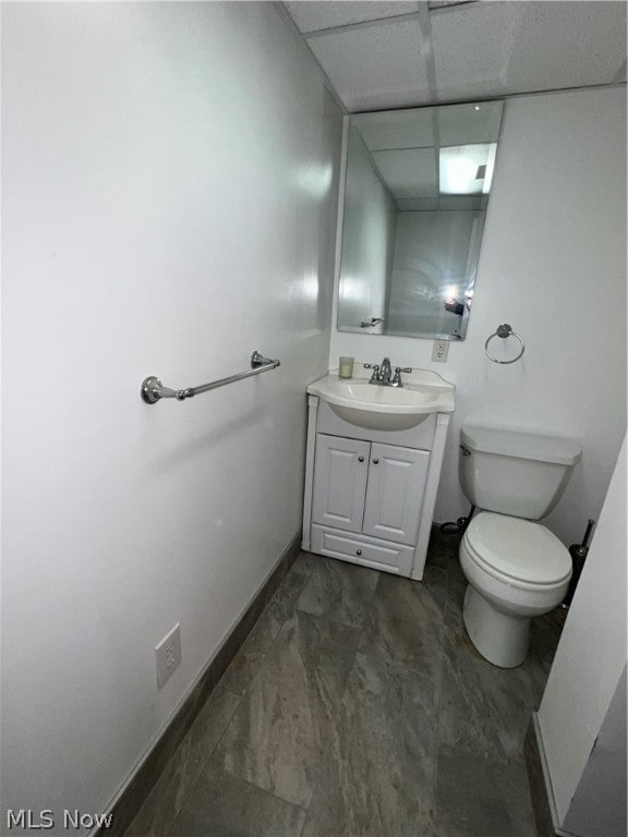
[[[395,197],[430,197],[438,194],[434,148],[373,151],[372,156]]]

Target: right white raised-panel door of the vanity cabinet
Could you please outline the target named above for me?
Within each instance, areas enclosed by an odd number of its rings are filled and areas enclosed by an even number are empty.
[[[365,535],[415,544],[430,452],[371,445],[369,488],[364,507]]]

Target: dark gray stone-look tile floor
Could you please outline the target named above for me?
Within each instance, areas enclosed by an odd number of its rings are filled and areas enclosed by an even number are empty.
[[[492,666],[457,549],[434,529],[422,583],[302,553],[125,837],[533,837],[523,737],[561,620]]]

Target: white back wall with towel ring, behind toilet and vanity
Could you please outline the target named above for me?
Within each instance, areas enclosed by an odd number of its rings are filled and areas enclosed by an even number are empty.
[[[526,341],[519,363],[484,354],[500,323]],[[546,523],[565,543],[579,539],[600,512],[626,428],[624,88],[506,102],[467,339],[451,342],[447,364],[432,364],[431,353],[431,340],[331,333],[331,366],[339,354],[387,354],[457,385],[440,522],[469,509],[458,482],[466,420],[578,439],[582,463]]]

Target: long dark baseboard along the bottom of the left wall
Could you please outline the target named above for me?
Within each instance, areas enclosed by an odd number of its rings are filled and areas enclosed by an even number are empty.
[[[192,683],[190,691],[174,709],[162,733],[150,747],[147,754],[135,771],[133,771],[118,797],[109,806],[107,814],[111,814],[111,825],[108,828],[98,828],[90,837],[122,837],[142,808],[146,797],[154,788],[168,761],[192,726],[194,718],[218,684],[227,666],[238,653],[283,580],[300,549],[301,532],[298,532],[279,556],[275,566],[268,572],[266,579],[262,582],[257,592],[253,595],[251,602],[246,605],[214,656],[209,659],[195,682]]]

